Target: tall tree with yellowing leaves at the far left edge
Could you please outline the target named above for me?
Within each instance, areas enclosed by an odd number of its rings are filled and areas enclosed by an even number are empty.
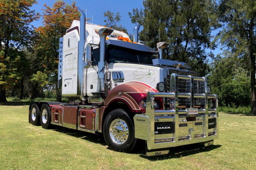
[[[33,42],[32,21],[39,18],[31,7],[36,0],[0,1],[0,102],[6,101],[6,88],[18,81],[17,53]]]

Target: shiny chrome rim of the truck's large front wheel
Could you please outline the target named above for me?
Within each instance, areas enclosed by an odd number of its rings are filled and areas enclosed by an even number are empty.
[[[127,123],[122,119],[114,119],[109,127],[109,135],[114,143],[125,143],[129,136]]]

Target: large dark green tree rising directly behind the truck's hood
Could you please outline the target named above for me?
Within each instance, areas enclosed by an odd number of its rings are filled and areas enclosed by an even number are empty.
[[[129,13],[132,23],[140,23],[140,39],[155,48],[157,42],[170,42],[166,59],[189,62],[195,71],[204,76],[205,59],[212,56],[206,48],[211,46],[211,31],[216,28],[211,0],[145,0],[145,9]],[[203,69],[202,69],[203,68]]]

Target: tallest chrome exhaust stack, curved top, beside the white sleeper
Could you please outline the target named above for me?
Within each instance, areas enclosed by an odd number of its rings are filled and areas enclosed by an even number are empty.
[[[77,68],[77,92],[76,95],[84,99],[83,95],[83,76],[84,76],[84,44],[85,44],[85,15],[84,12],[77,7],[80,16],[80,40],[78,42],[78,68]]]

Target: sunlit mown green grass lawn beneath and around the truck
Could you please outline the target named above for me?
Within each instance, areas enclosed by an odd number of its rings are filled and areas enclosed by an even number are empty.
[[[255,170],[256,116],[219,113],[219,139],[203,148],[172,148],[165,156],[109,150],[96,135],[62,127],[50,130],[28,122],[26,102],[0,103],[1,170]]]

